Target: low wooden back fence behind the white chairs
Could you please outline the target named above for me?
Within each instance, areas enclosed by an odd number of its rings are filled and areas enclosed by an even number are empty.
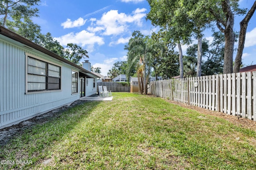
[[[107,86],[107,89],[111,92],[130,92],[130,84],[120,82],[97,82],[97,86]]]

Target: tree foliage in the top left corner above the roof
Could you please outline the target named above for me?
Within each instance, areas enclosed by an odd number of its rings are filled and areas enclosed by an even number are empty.
[[[1,0],[0,25],[6,26],[8,20],[15,22],[17,18],[31,19],[38,17],[38,9],[34,8],[40,0]]]

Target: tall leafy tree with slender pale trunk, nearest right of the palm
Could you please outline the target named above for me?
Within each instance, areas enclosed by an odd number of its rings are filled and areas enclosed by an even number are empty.
[[[188,14],[184,12],[185,1],[179,0],[148,0],[150,12],[147,19],[153,25],[159,25],[162,31],[166,31],[166,37],[172,39],[179,49],[180,78],[183,78],[183,62],[181,44],[190,42],[192,22],[187,20]]]

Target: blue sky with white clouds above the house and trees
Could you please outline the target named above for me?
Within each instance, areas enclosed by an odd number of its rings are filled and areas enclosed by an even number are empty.
[[[250,8],[252,4],[252,0],[240,0],[241,7]],[[76,43],[86,49],[88,60],[101,68],[102,75],[107,75],[117,61],[126,61],[124,45],[133,31],[144,35],[158,31],[145,20],[150,11],[146,0],[42,0],[38,9],[40,17],[33,20],[41,26],[42,33],[50,32],[64,47]],[[240,20],[242,17],[235,18],[237,31]],[[211,32],[206,31],[204,37],[211,40]],[[182,46],[184,54],[187,47]],[[248,25],[243,63],[256,64],[255,54],[256,14]]]

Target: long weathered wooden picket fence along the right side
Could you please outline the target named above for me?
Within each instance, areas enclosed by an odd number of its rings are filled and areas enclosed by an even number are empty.
[[[148,93],[256,121],[256,71],[154,81]]]

